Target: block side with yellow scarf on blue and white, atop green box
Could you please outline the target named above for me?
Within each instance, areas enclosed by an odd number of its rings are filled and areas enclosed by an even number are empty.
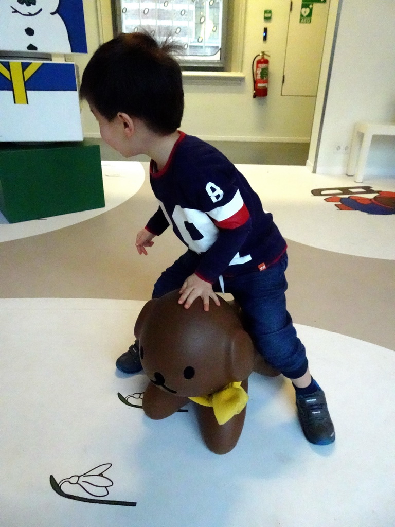
[[[82,141],[75,66],[0,61],[0,141]]]

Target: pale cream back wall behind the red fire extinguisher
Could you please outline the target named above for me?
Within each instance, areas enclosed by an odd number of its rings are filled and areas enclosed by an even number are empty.
[[[328,0],[329,1],[329,0]],[[101,0],[106,5],[107,0]],[[91,2],[84,2],[91,55],[98,45],[98,25]],[[185,113],[182,130],[206,140],[291,141],[308,142],[311,134],[315,97],[281,96],[290,0],[247,0],[245,45],[242,72],[244,80],[184,80]],[[272,22],[263,22],[264,9],[272,9]],[[263,27],[269,36],[263,46]],[[104,14],[104,31],[111,28],[108,12]],[[260,51],[270,57],[269,96],[253,99],[251,63]],[[81,71],[86,57],[79,57]],[[98,136],[98,128],[86,105],[82,114],[85,136]]]

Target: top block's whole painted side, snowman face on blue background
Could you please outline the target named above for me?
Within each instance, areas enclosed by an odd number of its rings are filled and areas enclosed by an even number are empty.
[[[0,0],[0,50],[86,53],[83,0]]]

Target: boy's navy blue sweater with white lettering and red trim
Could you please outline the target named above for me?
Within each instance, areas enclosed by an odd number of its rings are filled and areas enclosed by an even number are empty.
[[[263,270],[287,244],[272,214],[264,212],[248,181],[214,147],[180,132],[165,167],[150,164],[159,209],[146,229],[155,235],[172,226],[180,240],[201,254],[195,273],[213,284],[220,275]]]

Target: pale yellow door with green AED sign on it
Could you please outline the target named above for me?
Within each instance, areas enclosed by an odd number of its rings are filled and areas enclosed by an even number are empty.
[[[317,95],[330,0],[292,0],[282,95]]]

